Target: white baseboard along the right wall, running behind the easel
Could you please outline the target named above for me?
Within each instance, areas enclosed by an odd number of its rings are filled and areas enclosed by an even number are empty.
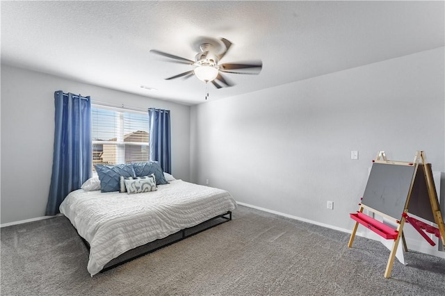
[[[334,230],[338,230],[338,231],[345,232],[345,233],[352,233],[353,232],[352,229],[344,229],[344,228],[341,228],[341,227],[335,227],[335,226],[330,225],[330,224],[324,224],[324,223],[320,223],[320,222],[317,222],[317,221],[305,219],[305,218],[302,218],[302,217],[297,217],[297,216],[294,216],[294,215],[289,215],[289,214],[285,214],[285,213],[269,210],[268,208],[261,208],[259,206],[253,206],[252,204],[245,204],[243,202],[236,202],[236,203],[240,204],[241,206],[247,206],[249,208],[256,208],[259,211],[264,211],[264,212],[267,212],[267,213],[273,213],[275,215],[288,217],[288,218],[291,218],[291,219],[294,219],[294,220],[299,220],[299,221],[302,221],[302,222],[315,224],[315,225],[318,225],[318,226],[321,226],[321,227],[326,227],[326,228],[329,228],[329,229],[334,229]],[[369,233],[371,233],[371,234],[369,234]],[[365,232],[357,231],[356,235],[357,236],[361,236],[363,238],[369,238],[371,240],[379,241],[379,238],[375,238],[375,236],[372,236],[372,232],[371,231],[368,231],[368,232],[366,232],[366,231]],[[433,247],[430,247],[430,245],[428,245],[428,243],[425,244],[425,243],[423,243],[423,242],[421,242],[419,240],[412,240],[412,239],[407,238],[407,245],[408,245],[408,249],[411,249],[413,251],[421,252],[421,253],[424,253],[424,254],[429,254],[429,255],[432,255],[432,256],[439,257],[439,258],[445,258],[445,252],[441,252],[441,251],[439,251],[439,250],[437,250],[437,249],[435,249]]]

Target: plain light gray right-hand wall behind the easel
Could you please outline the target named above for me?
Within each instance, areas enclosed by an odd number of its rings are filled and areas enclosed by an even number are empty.
[[[352,230],[378,151],[412,161],[423,150],[444,172],[444,79],[442,47],[193,106],[192,180]]]

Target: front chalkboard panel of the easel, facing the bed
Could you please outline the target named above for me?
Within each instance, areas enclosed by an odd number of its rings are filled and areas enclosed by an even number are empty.
[[[414,170],[414,165],[373,163],[362,204],[401,220]],[[429,204],[428,195],[426,200]]]

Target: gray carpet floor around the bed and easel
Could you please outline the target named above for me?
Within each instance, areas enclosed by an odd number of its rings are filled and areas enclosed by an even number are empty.
[[[233,220],[90,277],[66,217],[1,229],[1,295],[445,295],[445,260],[239,206]],[[408,246],[409,247],[409,246]]]

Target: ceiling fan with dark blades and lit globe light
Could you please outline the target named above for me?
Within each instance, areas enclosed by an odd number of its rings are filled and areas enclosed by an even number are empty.
[[[197,47],[197,51],[200,52],[195,56],[194,61],[156,49],[152,49],[150,52],[172,58],[172,61],[175,63],[188,64],[193,67],[190,71],[168,77],[165,80],[176,79],[179,77],[187,79],[195,75],[197,79],[200,79],[205,83],[211,82],[216,88],[222,88],[223,86],[229,87],[234,85],[234,83],[225,79],[222,73],[259,74],[261,72],[261,67],[263,67],[261,60],[251,63],[219,63],[225,54],[227,54],[227,51],[231,46],[232,42],[225,38],[200,38],[195,42],[195,47]],[[243,70],[245,71],[243,72]]]

